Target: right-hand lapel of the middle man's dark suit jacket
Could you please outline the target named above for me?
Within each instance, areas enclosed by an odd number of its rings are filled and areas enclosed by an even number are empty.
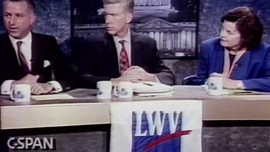
[[[143,59],[143,55],[142,55],[142,43],[140,42],[139,38],[138,38],[138,34],[130,31],[131,34],[131,65],[139,65]]]

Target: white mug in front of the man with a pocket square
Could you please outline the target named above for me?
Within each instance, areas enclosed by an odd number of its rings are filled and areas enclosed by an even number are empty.
[[[10,92],[11,100],[15,102],[29,102],[31,97],[31,85],[16,84]]]

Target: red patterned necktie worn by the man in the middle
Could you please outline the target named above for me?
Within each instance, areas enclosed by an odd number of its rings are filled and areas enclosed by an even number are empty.
[[[120,40],[119,43],[122,45],[122,49],[120,52],[119,66],[121,73],[126,71],[129,68],[129,60],[127,56],[127,51],[125,49],[124,43],[125,40]]]

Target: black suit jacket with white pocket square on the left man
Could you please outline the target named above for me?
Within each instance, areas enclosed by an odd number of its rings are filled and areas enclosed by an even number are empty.
[[[32,33],[32,75],[40,75],[38,82],[52,81],[52,71],[55,81],[58,81],[63,91],[74,87],[75,74],[62,55],[55,37]],[[16,52],[8,37],[8,33],[0,35],[0,85],[5,80],[20,80],[24,77]],[[44,61],[51,65],[44,68]]]

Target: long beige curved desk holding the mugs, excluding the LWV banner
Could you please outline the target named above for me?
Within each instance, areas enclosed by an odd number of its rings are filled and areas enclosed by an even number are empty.
[[[75,89],[72,100],[13,102],[0,96],[1,129],[94,125],[110,123],[112,102],[201,100],[203,120],[270,120],[270,94],[209,96],[201,86],[174,86],[171,97],[97,100],[96,90]]]

